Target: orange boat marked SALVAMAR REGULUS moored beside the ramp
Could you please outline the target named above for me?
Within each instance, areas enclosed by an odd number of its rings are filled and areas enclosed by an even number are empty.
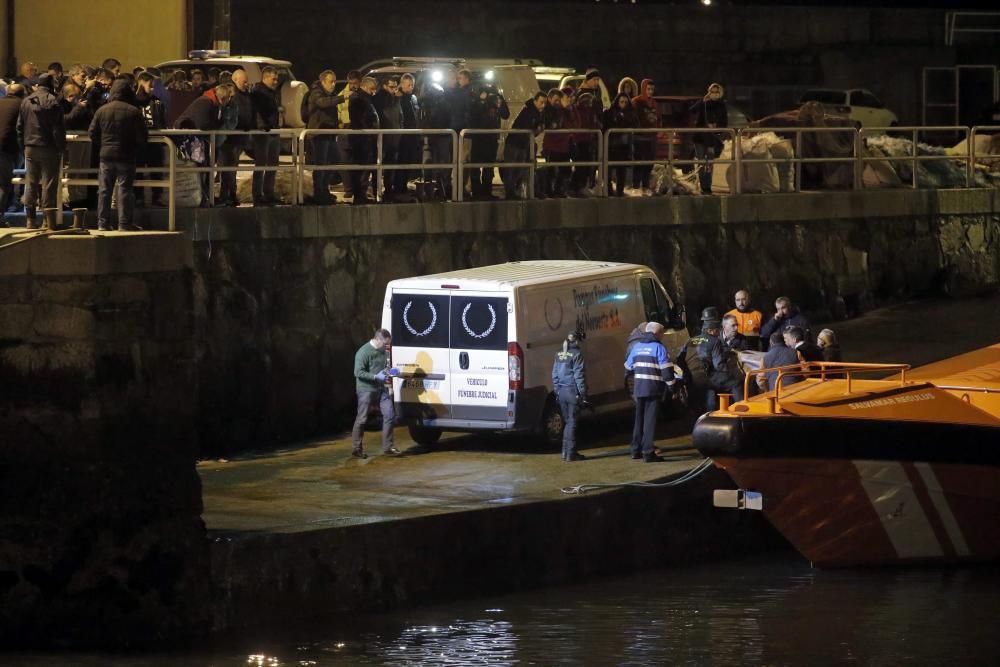
[[[750,371],[746,388],[775,371],[777,390],[722,397],[695,425],[694,446],[743,487],[716,505],[762,510],[820,567],[1000,556],[1000,344],[912,370]]]

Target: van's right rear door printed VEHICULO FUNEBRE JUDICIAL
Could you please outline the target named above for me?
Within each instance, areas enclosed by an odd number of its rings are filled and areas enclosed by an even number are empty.
[[[507,330],[513,312],[504,292],[451,293],[451,415],[507,421]]]

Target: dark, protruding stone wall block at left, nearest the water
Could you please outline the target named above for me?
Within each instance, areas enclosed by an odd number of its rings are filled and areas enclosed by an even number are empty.
[[[190,246],[152,238],[0,246],[2,645],[208,629]]]

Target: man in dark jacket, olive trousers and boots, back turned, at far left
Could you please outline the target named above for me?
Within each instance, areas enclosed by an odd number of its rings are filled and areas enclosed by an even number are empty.
[[[34,229],[39,187],[42,208],[56,205],[59,165],[66,150],[66,122],[59,99],[52,94],[52,77],[48,74],[38,77],[35,92],[21,103],[17,135],[24,146],[26,226]]]

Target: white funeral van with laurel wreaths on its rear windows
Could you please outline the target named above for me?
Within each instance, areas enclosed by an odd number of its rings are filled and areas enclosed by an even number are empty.
[[[552,362],[566,334],[586,333],[588,394],[601,413],[632,404],[626,340],[643,321],[667,327],[671,355],[688,339],[683,309],[639,264],[539,260],[393,280],[382,326],[392,333],[399,371],[397,419],[423,445],[442,430],[523,430],[558,440]]]

